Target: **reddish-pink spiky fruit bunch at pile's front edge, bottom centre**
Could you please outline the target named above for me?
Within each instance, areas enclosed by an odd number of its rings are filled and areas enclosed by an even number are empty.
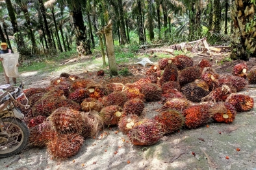
[[[133,145],[153,145],[162,138],[162,124],[155,120],[144,120],[140,125],[136,125],[128,133],[128,137]]]

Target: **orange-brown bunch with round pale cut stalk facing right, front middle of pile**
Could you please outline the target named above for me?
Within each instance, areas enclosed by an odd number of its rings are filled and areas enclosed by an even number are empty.
[[[105,125],[117,125],[118,121],[123,115],[122,108],[118,105],[110,105],[107,107],[103,107],[101,112],[99,112],[99,116],[103,118],[103,123]]]

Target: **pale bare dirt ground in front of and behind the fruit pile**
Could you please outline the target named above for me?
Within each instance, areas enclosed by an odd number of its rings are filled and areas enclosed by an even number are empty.
[[[244,61],[229,61],[228,53],[214,56],[194,56],[194,64],[201,59],[209,59],[212,67],[219,74],[231,74],[233,66]],[[154,58],[150,58],[154,61]],[[97,82],[134,82],[142,78],[149,67],[129,63],[127,67],[133,76],[116,76],[107,74],[97,77],[101,58],[90,61],[84,57],[74,59],[64,69],[56,72],[38,74],[24,72],[21,79],[25,89],[45,87],[50,80],[61,72],[77,74],[92,78]],[[138,59],[140,61],[141,59]],[[256,69],[256,58],[247,61],[248,68]],[[85,66],[81,67],[81,64]],[[155,61],[157,63],[157,61]],[[0,74],[4,82],[3,74]],[[256,89],[253,86],[244,89],[256,100]],[[146,103],[143,115],[146,117],[158,114],[162,107],[160,102]],[[209,127],[183,129],[179,133],[164,136],[159,143],[151,146],[135,146],[123,133],[116,133],[118,127],[107,128],[95,139],[84,140],[79,153],[68,160],[52,160],[47,149],[27,148],[22,153],[0,159],[0,169],[256,169],[256,106],[249,112],[240,112],[231,124],[209,123]],[[101,135],[102,134],[102,135]],[[240,151],[237,151],[237,148]],[[115,154],[116,152],[116,154]],[[194,153],[194,154],[192,154]],[[229,159],[225,158],[229,156]]]

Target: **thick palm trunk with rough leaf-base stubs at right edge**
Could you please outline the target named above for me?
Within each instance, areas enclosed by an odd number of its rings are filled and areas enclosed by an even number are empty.
[[[250,0],[235,0],[231,11],[234,23],[231,39],[231,59],[248,60],[251,56],[255,56],[255,10],[255,5]]]

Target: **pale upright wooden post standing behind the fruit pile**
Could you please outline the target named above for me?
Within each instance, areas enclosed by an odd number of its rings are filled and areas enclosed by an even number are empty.
[[[105,26],[104,31],[105,31],[105,37],[106,37],[108,59],[109,59],[110,76],[117,76],[118,75],[118,67],[116,65],[116,58],[114,55],[112,24]]]

